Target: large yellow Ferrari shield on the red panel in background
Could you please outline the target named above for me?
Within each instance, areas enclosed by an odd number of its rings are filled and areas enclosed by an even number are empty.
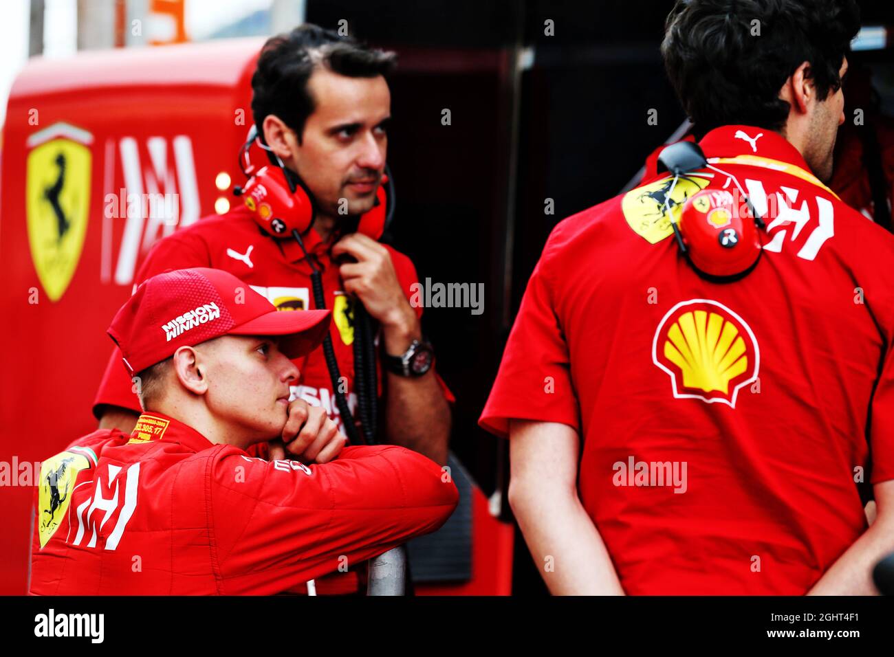
[[[31,259],[51,301],[62,298],[78,268],[90,205],[89,132],[55,123],[30,136],[25,213]]]

